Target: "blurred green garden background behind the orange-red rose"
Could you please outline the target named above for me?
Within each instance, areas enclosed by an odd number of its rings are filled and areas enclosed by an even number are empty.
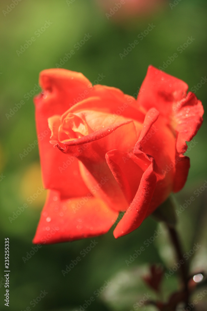
[[[29,260],[23,261],[23,257],[34,247],[31,241],[45,200],[43,193],[16,219],[9,218],[42,185],[38,146],[27,156],[20,158],[24,148],[36,140],[32,97],[39,90],[35,88],[35,84],[38,83],[41,70],[60,64],[65,53],[74,49],[74,45],[83,39],[85,33],[89,33],[92,37],[79,50],[75,50],[75,54],[62,67],[82,72],[92,82],[99,74],[104,75],[101,84],[118,87],[133,95],[141,86],[148,65],[162,67],[163,62],[192,36],[195,40],[182,53],[178,53],[178,58],[165,69],[165,72],[187,82],[191,89],[207,74],[207,3],[205,0],[182,0],[170,7],[166,1],[159,12],[134,18],[129,16],[122,21],[113,17],[107,19],[106,12],[109,10],[103,11],[98,1],[92,0],[22,0],[14,8],[12,5],[11,12],[5,15],[3,10],[7,10],[7,5],[10,6],[11,3],[13,2],[5,0],[0,3],[0,309],[7,308],[3,301],[3,271],[4,238],[9,237],[10,311],[26,310],[29,306],[37,311],[83,310],[80,306],[92,296],[95,301],[87,306],[88,310],[135,310],[133,304],[139,302],[144,294],[149,293],[151,298],[156,297],[141,279],[141,275],[148,271],[148,264],[161,262],[168,271],[176,262],[164,226],[158,225],[151,218],[144,221],[139,229],[121,239],[114,239],[113,228],[108,234],[96,238],[97,246],[65,276],[61,271],[90,244],[90,239],[43,245]],[[45,21],[52,24],[39,36],[34,35],[44,26]],[[133,43],[137,35],[147,29],[149,23],[153,23],[155,28],[121,59],[119,53],[123,53],[124,48]],[[36,40],[31,46],[23,53],[17,53],[25,40],[32,36]],[[202,101],[204,108],[206,85],[199,84],[196,90],[196,96]],[[25,104],[14,109],[15,104],[21,100]],[[8,117],[11,114],[10,109],[17,111]],[[192,273],[206,270],[207,193],[205,189],[200,191],[198,197],[193,194],[207,179],[206,130],[207,123],[204,120],[194,138],[197,142],[195,147],[188,151],[191,169],[187,183],[175,196],[178,205],[183,205],[192,195],[196,198],[187,210],[178,215],[178,230],[185,252],[191,250],[194,243],[201,245],[188,261]],[[162,234],[127,266],[126,260],[129,260],[130,255],[140,249],[144,241],[153,236],[154,230],[158,228]],[[111,284],[97,297],[95,291],[108,280]],[[164,277],[164,299],[178,287],[176,273],[168,280]],[[41,290],[45,290],[47,295],[38,304],[31,305],[30,302],[40,295]],[[205,304],[204,297],[195,310],[204,310],[202,308],[205,308]],[[147,306],[146,310],[156,308]]]

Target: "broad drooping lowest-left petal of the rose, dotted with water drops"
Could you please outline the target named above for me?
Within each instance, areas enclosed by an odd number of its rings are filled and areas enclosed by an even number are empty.
[[[57,191],[48,191],[34,244],[52,244],[91,238],[105,234],[116,221],[118,212],[111,211],[98,198],[79,197],[60,200]]]

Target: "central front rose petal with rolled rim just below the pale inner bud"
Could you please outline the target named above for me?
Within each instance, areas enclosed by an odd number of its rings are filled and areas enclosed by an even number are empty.
[[[133,122],[124,121],[65,142],[65,149],[61,146],[59,148],[67,154],[76,154],[82,162],[80,167],[83,180],[94,196],[101,197],[112,209],[123,211],[128,207],[128,202],[106,163],[105,155],[114,148],[130,152],[136,142],[137,134]],[[103,179],[107,179],[107,182],[97,191],[97,184]]]

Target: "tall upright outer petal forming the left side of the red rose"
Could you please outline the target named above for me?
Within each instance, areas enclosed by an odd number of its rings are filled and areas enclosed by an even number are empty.
[[[40,162],[45,188],[61,191],[62,197],[78,197],[88,193],[77,159],[61,154],[50,144],[50,129],[47,119],[62,115],[73,104],[79,92],[90,82],[81,73],[65,69],[48,69],[40,74],[39,83],[43,93],[35,97],[35,117],[38,135]],[[91,84],[90,84],[91,85]]]

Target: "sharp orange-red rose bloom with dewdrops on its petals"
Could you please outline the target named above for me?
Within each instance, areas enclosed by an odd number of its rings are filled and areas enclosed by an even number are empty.
[[[203,107],[185,82],[152,66],[137,100],[81,73],[48,69],[35,97],[44,187],[34,243],[56,243],[137,229],[184,186],[183,154]],[[49,128],[48,128],[49,127]]]

